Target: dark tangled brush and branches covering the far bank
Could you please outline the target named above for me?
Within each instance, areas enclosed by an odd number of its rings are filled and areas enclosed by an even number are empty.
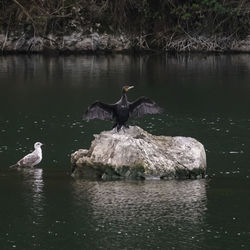
[[[2,34],[125,33],[141,49],[225,46],[249,25],[247,0],[0,0]]]

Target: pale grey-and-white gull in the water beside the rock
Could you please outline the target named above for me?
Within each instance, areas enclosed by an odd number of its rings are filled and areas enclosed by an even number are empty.
[[[16,164],[10,166],[10,168],[14,167],[34,167],[35,165],[39,164],[42,160],[42,149],[41,146],[43,144],[41,142],[36,142],[34,144],[35,150],[24,156],[21,160],[19,160]]]

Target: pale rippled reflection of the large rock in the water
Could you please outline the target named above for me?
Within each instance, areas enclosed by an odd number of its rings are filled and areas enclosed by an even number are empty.
[[[112,242],[114,248],[158,246],[178,249],[185,244],[192,249],[204,240],[206,180],[78,180],[73,186],[78,206],[89,199],[89,220],[95,226],[92,230],[98,231],[99,246]],[[177,238],[177,242],[173,241]]]

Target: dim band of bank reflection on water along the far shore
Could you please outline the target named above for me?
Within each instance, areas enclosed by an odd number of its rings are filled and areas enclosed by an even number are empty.
[[[239,87],[249,85],[249,55],[164,55],[164,56],[8,56],[0,57],[1,84],[10,83],[19,91],[27,86],[70,86],[94,88],[122,86],[133,82],[140,86],[182,88],[232,86],[241,73]],[[221,75],[224,73],[224,81]],[[35,79],[35,80],[34,80]],[[170,89],[169,89],[170,90]],[[120,91],[119,91],[120,92]],[[118,92],[118,93],[119,93]],[[23,92],[25,94],[25,92]],[[106,94],[106,93],[103,93]]]

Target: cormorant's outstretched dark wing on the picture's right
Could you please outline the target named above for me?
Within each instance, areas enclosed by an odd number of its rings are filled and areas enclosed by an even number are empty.
[[[153,100],[142,96],[129,104],[130,117],[141,117],[146,114],[159,114],[163,109],[160,108]]]

